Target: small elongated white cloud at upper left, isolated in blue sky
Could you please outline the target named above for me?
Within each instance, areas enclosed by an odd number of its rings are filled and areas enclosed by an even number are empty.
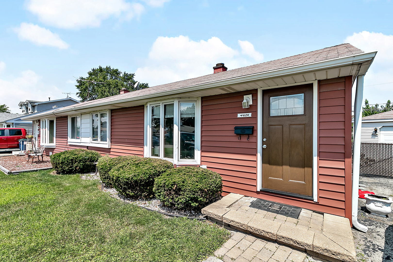
[[[53,46],[60,49],[69,47],[59,35],[34,24],[22,23],[19,27],[14,28],[14,31],[18,34],[19,39],[28,40],[37,46]]]

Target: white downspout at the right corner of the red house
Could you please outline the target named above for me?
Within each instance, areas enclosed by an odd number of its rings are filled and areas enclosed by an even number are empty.
[[[356,229],[366,233],[368,228],[358,222],[358,190],[360,173],[360,136],[362,130],[363,82],[364,75],[358,75],[356,79],[353,123],[352,224]]]

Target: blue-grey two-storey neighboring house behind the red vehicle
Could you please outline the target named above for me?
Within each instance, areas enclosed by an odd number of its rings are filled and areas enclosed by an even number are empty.
[[[27,114],[33,115],[39,112],[46,112],[48,110],[52,110],[56,107],[70,106],[77,103],[79,103],[79,101],[73,98],[63,98],[45,102],[26,100],[25,102],[19,103],[22,114],[13,114],[13,117],[9,119],[4,119],[4,121],[0,121],[0,126],[6,125],[7,127],[26,128],[28,134],[33,134],[33,122],[30,120],[22,120],[22,117],[26,116]],[[35,130],[37,130],[37,126]]]

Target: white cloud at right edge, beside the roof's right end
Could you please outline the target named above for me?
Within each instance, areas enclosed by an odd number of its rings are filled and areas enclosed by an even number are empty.
[[[345,42],[362,49],[363,51],[378,51],[369,71],[364,77],[364,98],[370,104],[384,104],[387,99],[393,101],[393,35],[362,31],[347,37]],[[368,86],[381,84],[376,86]]]

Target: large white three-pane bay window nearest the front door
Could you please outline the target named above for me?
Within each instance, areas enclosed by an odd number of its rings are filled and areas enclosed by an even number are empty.
[[[199,163],[198,100],[152,103],[147,109],[147,156]]]

